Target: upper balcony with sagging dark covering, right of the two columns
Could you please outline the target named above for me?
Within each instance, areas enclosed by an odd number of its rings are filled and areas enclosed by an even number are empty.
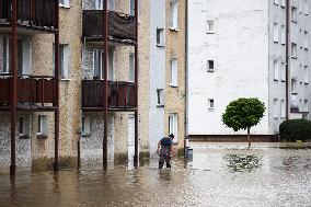
[[[83,10],[82,37],[88,42],[101,42],[104,38],[104,10]],[[136,18],[108,11],[108,41],[134,44],[136,41]]]

